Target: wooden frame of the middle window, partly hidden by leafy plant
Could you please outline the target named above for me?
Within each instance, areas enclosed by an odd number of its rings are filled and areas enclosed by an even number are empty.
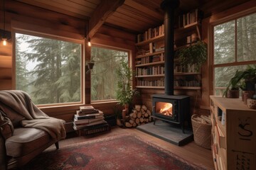
[[[127,56],[128,57],[128,65],[129,65],[130,68],[132,68],[132,60],[131,60],[132,59],[132,56],[131,56],[132,52],[131,52],[131,50],[122,49],[122,48],[119,48],[119,47],[112,47],[112,46],[109,46],[109,45],[97,44],[97,43],[92,43],[91,48],[92,47],[100,47],[100,48],[105,48],[105,49],[109,49],[109,50],[119,50],[119,51],[122,51],[122,52],[127,52],[127,54],[128,54],[128,56]],[[91,48],[90,48],[90,50],[91,50]],[[91,54],[91,51],[90,51],[90,54]],[[90,81],[92,81],[92,79]],[[134,89],[133,84],[134,84],[134,79],[132,80],[132,89]],[[90,88],[92,89],[92,86],[90,86]],[[117,103],[117,102],[119,102],[119,101],[117,101],[116,98],[115,99],[92,101],[91,100],[91,94],[90,94],[90,101],[91,101],[92,104],[95,104],[95,103]]]

